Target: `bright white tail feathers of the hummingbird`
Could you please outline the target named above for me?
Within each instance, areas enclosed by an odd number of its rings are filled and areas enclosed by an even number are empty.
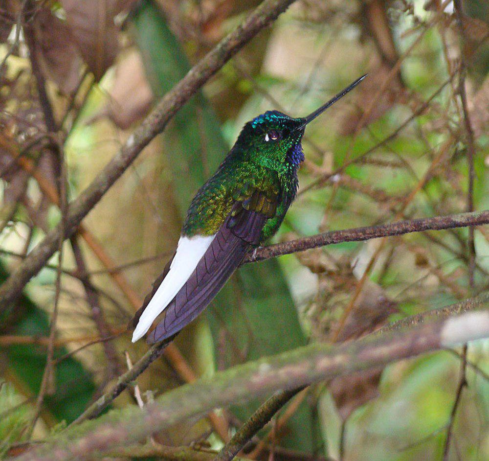
[[[133,343],[142,338],[156,317],[166,308],[180,288],[194,272],[200,258],[209,248],[214,235],[180,237],[177,253],[173,258],[168,274],[156,290],[155,295],[144,309],[133,333]]]

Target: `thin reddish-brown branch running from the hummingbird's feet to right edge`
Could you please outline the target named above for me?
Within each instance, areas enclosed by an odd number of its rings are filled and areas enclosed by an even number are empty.
[[[345,230],[331,230],[311,237],[290,240],[267,247],[259,247],[246,257],[244,263],[263,261],[283,254],[297,253],[311,248],[323,247],[333,243],[361,242],[371,238],[402,235],[409,232],[424,230],[455,229],[466,226],[481,226],[489,224],[489,210],[460,213],[448,216],[435,216],[434,218],[421,218],[407,221],[398,221],[380,226],[360,227]]]

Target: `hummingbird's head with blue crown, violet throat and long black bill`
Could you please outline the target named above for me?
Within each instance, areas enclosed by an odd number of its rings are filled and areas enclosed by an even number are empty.
[[[254,156],[264,166],[274,169],[283,165],[298,166],[304,160],[301,141],[306,125],[353,90],[365,77],[366,75],[363,75],[356,79],[306,117],[292,118],[279,111],[267,111],[258,115],[244,125],[235,148]]]

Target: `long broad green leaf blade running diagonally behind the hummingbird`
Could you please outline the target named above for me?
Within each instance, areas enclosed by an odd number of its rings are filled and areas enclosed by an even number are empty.
[[[177,39],[151,1],[134,15],[134,34],[157,97],[168,92],[190,69]],[[202,93],[196,94],[165,130],[164,145],[182,217],[193,195],[220,164],[229,146],[219,121]],[[240,287],[241,290],[237,290]],[[237,296],[236,293],[241,293]],[[277,261],[248,265],[222,289],[207,309],[216,361],[227,367],[243,360],[302,346],[293,300]],[[258,402],[236,408],[244,418]],[[302,405],[289,422],[286,446],[312,450],[311,410]]]

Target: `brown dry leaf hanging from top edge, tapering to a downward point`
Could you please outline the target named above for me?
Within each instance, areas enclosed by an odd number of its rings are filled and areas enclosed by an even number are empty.
[[[118,51],[118,28],[114,18],[129,0],[61,0],[67,24],[89,70],[100,80]]]

